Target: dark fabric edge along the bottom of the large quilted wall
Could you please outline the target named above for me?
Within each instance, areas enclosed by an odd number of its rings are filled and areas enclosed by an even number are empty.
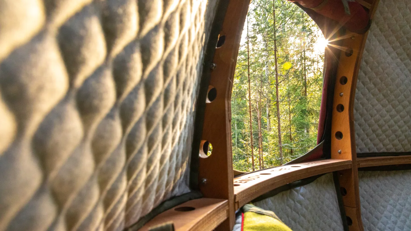
[[[175,206],[178,206],[184,202],[191,201],[194,199],[199,199],[201,197],[203,197],[203,194],[201,194],[201,192],[198,192],[198,191],[192,191],[186,194],[182,194],[180,196],[175,196],[174,198],[161,203],[159,206],[151,210],[150,213],[148,213],[144,217],[141,217],[138,222],[136,222],[129,228],[126,228],[125,231],[137,231],[141,229],[141,227],[143,227],[145,223],[149,222],[151,219],[153,219],[155,216],[159,215],[160,213],[163,213],[164,211],[169,210]]]

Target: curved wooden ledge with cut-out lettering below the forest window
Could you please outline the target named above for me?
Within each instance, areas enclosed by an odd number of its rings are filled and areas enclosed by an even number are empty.
[[[282,185],[344,169],[351,169],[351,160],[324,159],[278,166],[234,178],[236,209]]]

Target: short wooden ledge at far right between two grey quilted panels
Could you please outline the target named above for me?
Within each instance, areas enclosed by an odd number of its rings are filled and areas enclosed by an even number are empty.
[[[411,164],[411,155],[409,156],[388,156],[388,157],[359,157],[357,158],[358,168]]]

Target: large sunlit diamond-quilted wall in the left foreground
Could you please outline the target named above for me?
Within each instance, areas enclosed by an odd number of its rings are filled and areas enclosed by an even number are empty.
[[[216,2],[0,0],[0,231],[122,230],[189,192]]]

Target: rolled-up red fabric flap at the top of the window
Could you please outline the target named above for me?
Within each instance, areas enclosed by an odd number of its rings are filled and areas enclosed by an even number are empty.
[[[350,9],[350,15],[348,15],[345,12],[342,0],[293,1],[300,3],[303,7],[314,9],[315,12],[339,22],[340,25],[344,26],[344,28],[350,30],[351,32],[363,33],[369,24],[368,13],[358,2],[348,2]],[[318,9],[316,9],[316,7],[318,7]]]

